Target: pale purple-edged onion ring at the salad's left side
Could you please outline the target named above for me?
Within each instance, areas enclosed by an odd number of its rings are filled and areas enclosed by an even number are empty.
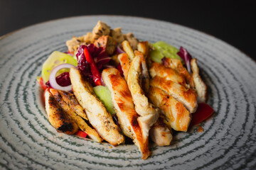
[[[75,67],[72,64],[60,64],[57,67],[54,67],[53,70],[50,72],[49,83],[53,89],[58,89],[62,91],[72,91],[71,84],[69,86],[60,86],[56,81],[56,74],[60,69],[70,69],[71,67]]]

